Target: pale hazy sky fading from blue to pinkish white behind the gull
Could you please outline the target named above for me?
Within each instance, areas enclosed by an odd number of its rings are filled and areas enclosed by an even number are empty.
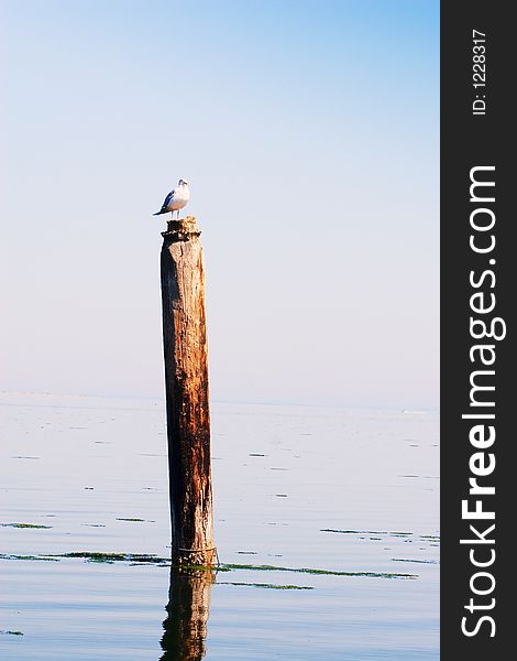
[[[212,399],[438,405],[438,0],[0,7],[0,389],[162,395],[185,177]]]

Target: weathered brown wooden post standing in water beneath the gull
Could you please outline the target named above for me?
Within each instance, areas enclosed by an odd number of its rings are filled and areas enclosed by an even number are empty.
[[[201,232],[196,218],[162,232],[162,303],[173,565],[216,564]]]

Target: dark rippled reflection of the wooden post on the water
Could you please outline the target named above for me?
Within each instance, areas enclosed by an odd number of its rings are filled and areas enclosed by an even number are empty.
[[[205,657],[215,576],[215,572],[207,570],[170,570],[161,661],[199,661]]]

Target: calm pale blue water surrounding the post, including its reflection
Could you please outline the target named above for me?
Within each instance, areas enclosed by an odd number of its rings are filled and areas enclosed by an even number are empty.
[[[438,660],[437,413],[215,403],[227,571],[170,579],[56,557],[168,556],[163,402],[0,404],[1,659]]]

